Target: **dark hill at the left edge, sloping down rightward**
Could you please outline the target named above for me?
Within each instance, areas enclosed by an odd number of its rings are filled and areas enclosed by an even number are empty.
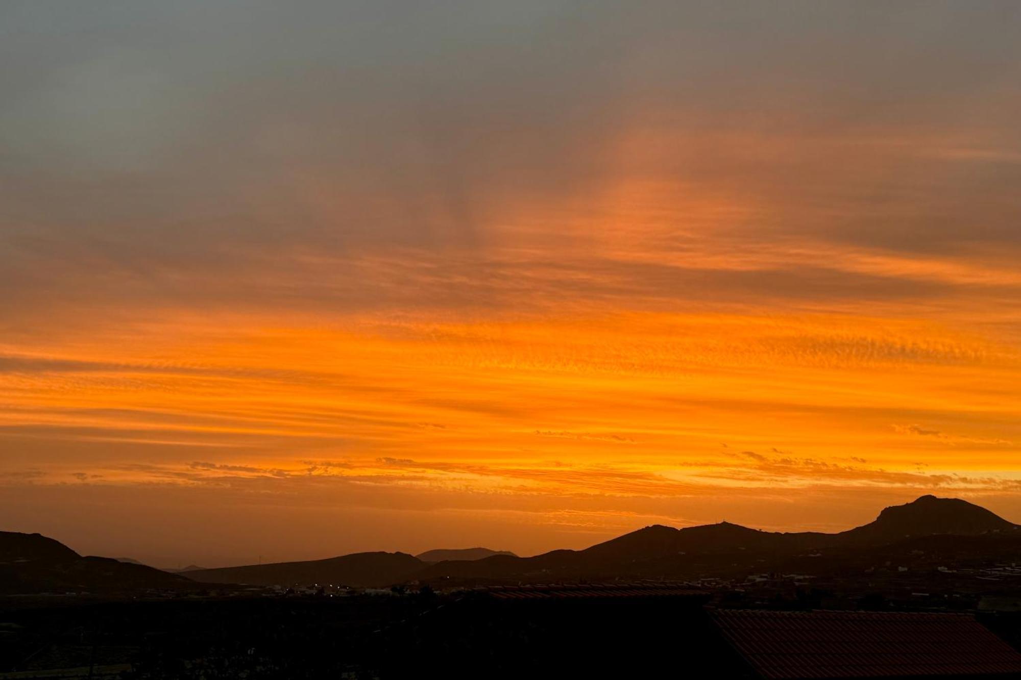
[[[83,557],[40,534],[0,532],[0,594],[194,587],[181,576],[109,557]]]

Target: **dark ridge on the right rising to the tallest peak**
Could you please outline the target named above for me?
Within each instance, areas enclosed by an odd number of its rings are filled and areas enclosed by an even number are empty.
[[[726,577],[749,570],[811,573],[852,564],[872,566],[880,551],[883,561],[892,560],[909,551],[912,540],[927,540],[933,555],[956,560],[961,556],[956,547],[961,537],[987,539],[983,543],[986,553],[1010,554],[1021,544],[1021,528],[959,498],[922,496],[885,508],[870,524],[837,534],[768,532],[729,522],[682,529],[653,525],[583,550],[442,562],[427,567],[418,578],[536,582]]]

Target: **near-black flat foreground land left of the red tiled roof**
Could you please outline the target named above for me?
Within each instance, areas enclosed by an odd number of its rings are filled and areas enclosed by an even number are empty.
[[[430,671],[494,677],[535,674],[550,665],[594,670],[611,662],[650,670],[653,660],[641,653],[607,661],[604,654],[577,652],[592,644],[676,648],[678,636],[695,644],[708,630],[699,624],[699,602],[638,597],[522,603],[428,593],[40,602],[38,609],[4,613],[2,658],[4,670],[93,665],[93,673],[106,670],[125,678],[345,672],[408,677]]]

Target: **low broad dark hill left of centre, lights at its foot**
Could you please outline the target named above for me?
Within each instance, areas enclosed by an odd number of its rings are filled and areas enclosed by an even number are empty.
[[[426,564],[404,552],[355,552],[310,562],[282,562],[202,569],[184,574],[195,581],[250,585],[388,586],[406,580]]]

